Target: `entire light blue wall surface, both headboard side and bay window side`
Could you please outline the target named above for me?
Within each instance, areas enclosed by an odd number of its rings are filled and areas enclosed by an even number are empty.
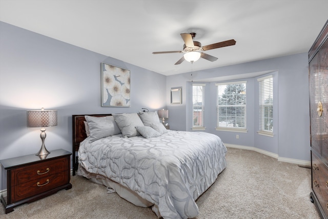
[[[58,126],[47,128],[45,144],[49,150],[71,151],[72,114],[167,108],[170,128],[190,131],[192,78],[196,82],[218,76],[274,71],[273,138],[256,133],[256,78],[246,78],[248,133],[215,131],[215,82],[207,83],[206,131],[217,134],[227,144],[257,147],[280,157],[310,161],[306,53],[193,72],[192,77],[191,73],[163,76],[0,22],[0,60],[0,159],[39,150],[39,129],[26,127],[28,109],[57,109]],[[131,71],[131,107],[100,107],[101,62]],[[182,87],[181,105],[170,104],[172,87]]]

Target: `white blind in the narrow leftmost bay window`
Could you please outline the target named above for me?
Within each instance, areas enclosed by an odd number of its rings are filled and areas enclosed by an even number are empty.
[[[204,88],[206,84],[193,84],[193,129],[204,128]]]

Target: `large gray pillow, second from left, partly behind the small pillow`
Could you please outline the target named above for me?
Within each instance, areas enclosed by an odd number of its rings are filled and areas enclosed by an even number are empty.
[[[144,126],[137,113],[113,114],[118,128],[121,130],[123,137],[138,136],[140,133],[136,126]]]

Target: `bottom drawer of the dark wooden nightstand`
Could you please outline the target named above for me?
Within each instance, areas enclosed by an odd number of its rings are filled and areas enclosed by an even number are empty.
[[[38,178],[27,183],[19,184],[12,187],[12,202],[23,200],[31,195],[49,191],[68,182],[69,172],[59,172],[42,178]]]

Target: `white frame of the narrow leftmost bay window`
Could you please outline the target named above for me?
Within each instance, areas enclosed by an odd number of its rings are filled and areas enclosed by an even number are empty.
[[[197,90],[197,97],[194,96],[194,87],[202,87],[203,89],[202,90]],[[193,83],[192,84],[192,130],[205,130],[205,124],[204,124],[204,110],[205,110],[205,86],[206,84],[195,84]],[[201,92],[201,93],[198,93],[198,92]],[[197,103],[200,103],[200,99],[201,98],[201,105],[196,105],[198,108],[200,107],[201,108],[201,125],[200,126],[194,126],[194,101],[195,101],[195,98],[196,98],[196,101]]]

